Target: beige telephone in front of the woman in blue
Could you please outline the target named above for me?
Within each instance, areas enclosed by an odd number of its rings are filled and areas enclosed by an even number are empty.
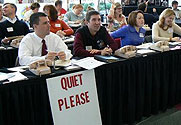
[[[136,56],[136,47],[132,45],[124,46],[114,53],[116,56],[123,57],[123,58],[130,58]]]

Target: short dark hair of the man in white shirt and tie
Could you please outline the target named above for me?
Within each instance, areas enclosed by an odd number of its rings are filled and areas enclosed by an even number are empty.
[[[47,17],[47,15],[43,12],[37,12],[37,13],[33,13],[30,16],[30,27],[33,27],[33,24],[39,24],[40,21],[40,17]]]

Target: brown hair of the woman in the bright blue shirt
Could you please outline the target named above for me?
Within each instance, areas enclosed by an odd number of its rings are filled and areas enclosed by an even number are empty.
[[[128,16],[128,24],[131,25],[131,26],[136,26],[136,17],[138,15],[138,13],[142,13],[143,14],[143,11],[141,10],[135,10],[135,11],[132,11],[129,16]]]

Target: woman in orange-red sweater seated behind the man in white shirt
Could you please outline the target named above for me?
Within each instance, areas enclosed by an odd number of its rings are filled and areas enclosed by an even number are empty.
[[[58,12],[53,5],[45,5],[43,11],[50,20],[50,31],[60,37],[72,35],[74,31],[63,20],[58,19]]]

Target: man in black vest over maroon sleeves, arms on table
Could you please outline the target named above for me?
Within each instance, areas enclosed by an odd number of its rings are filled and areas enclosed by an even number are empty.
[[[101,26],[99,12],[89,11],[86,14],[86,21],[87,25],[79,28],[75,34],[74,55],[79,57],[111,55],[117,49],[117,44]]]

